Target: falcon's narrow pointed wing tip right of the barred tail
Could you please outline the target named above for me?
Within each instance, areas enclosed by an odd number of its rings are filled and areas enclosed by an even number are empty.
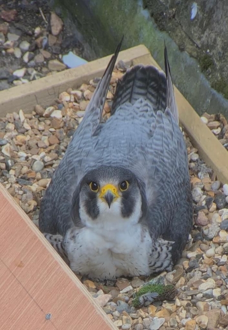
[[[178,107],[176,106],[176,101],[175,101],[175,94],[172,84],[166,46],[164,49],[164,57],[165,57],[165,74],[166,74],[166,82],[167,82],[167,87],[166,87],[167,108],[169,108],[169,110],[171,111],[176,122],[179,122]]]

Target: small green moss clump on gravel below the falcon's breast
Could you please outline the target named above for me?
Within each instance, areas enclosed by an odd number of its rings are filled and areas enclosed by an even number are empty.
[[[173,285],[163,285],[163,284],[146,284],[136,293],[134,299],[132,300],[132,306],[141,306],[139,297],[147,293],[157,292],[159,295],[155,300],[166,300],[173,299],[176,294],[176,289]]]

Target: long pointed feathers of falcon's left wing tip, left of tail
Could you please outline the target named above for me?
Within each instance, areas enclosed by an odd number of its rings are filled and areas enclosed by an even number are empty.
[[[106,101],[106,96],[109,90],[109,84],[110,84],[110,80],[112,77],[112,71],[114,69],[118,54],[119,54],[119,50],[122,44],[122,40],[121,39],[120,43],[118,44],[118,46],[116,47],[115,50],[115,54],[112,56],[106,70],[105,73],[102,77],[102,79],[99,81],[93,96],[90,100],[90,103],[86,109],[86,113],[84,116],[84,122],[86,121],[85,118],[87,116],[92,115],[92,132],[91,135],[95,134],[95,131],[97,129],[97,126],[100,123],[100,120],[102,119],[102,112],[105,106],[105,101]]]

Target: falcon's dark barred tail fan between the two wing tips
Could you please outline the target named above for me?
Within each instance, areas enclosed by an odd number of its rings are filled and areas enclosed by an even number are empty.
[[[166,78],[154,66],[137,65],[126,71],[118,82],[113,100],[112,114],[125,102],[134,104],[137,99],[148,100],[154,111],[165,111],[166,108]]]

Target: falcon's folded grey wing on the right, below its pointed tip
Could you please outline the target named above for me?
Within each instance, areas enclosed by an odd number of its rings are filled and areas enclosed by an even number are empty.
[[[192,228],[192,195],[185,141],[167,108],[158,112],[153,138],[147,144],[148,214],[151,236],[173,241],[175,263],[181,257]]]

